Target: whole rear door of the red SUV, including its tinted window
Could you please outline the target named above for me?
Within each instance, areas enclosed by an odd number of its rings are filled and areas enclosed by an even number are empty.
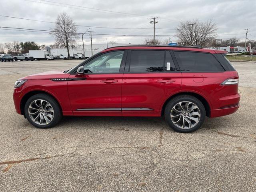
[[[159,116],[167,98],[180,90],[182,74],[165,50],[130,50],[122,83],[123,116]]]

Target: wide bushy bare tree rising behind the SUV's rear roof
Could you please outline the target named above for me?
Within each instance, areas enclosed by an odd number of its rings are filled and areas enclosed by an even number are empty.
[[[212,20],[200,22],[199,20],[187,20],[180,22],[176,28],[179,41],[184,45],[205,46],[209,41],[216,37],[216,24]]]

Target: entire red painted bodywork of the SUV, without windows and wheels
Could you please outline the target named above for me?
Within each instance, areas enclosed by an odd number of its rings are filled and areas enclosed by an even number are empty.
[[[116,47],[102,52],[126,49],[189,50],[211,54],[226,53],[226,51],[221,50],[171,46]],[[210,117],[217,117],[234,113],[239,108],[240,95],[238,94],[238,85],[221,85],[224,80],[233,77],[238,77],[236,71],[85,75],[53,71],[21,78],[27,81],[20,88],[14,88],[13,99],[18,114],[22,114],[21,101],[26,94],[32,91],[43,91],[52,95],[58,101],[63,115],[160,116],[164,103],[171,96],[190,92],[202,96],[210,106]],[[67,80],[52,81],[51,79],[53,78],[66,78]],[[84,79],[71,80],[74,78]],[[113,82],[109,83],[109,81]],[[99,110],[78,110],[95,108],[99,108]],[[106,111],[104,110],[106,108],[112,108],[112,110]],[[147,108],[148,110],[121,110],[122,108]]]

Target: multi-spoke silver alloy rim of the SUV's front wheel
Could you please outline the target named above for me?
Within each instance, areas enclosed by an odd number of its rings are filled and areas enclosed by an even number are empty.
[[[37,99],[30,103],[28,114],[33,122],[39,125],[46,125],[52,122],[54,110],[46,100]]]

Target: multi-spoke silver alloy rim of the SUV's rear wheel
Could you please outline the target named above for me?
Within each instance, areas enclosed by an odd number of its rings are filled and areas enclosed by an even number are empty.
[[[201,113],[196,104],[182,101],[174,105],[170,116],[172,123],[178,128],[190,129],[198,124]]]

